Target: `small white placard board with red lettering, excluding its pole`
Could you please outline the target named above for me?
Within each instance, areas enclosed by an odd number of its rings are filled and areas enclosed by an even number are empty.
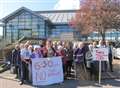
[[[93,49],[93,60],[108,61],[108,48]]]

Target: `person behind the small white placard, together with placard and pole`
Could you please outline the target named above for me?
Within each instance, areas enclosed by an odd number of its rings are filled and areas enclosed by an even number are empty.
[[[99,85],[100,85],[101,72],[107,70],[108,61],[108,48],[104,45],[102,40],[99,41],[99,48],[93,50],[93,60],[99,61]]]

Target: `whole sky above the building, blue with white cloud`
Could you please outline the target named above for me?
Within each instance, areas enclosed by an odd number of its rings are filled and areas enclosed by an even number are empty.
[[[0,0],[0,19],[22,6],[33,11],[78,9],[79,0]]]

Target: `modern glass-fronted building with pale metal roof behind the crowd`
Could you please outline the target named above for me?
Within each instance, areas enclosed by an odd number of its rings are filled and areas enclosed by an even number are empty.
[[[9,43],[22,37],[81,40],[83,36],[69,25],[75,13],[76,10],[31,11],[22,7],[2,19],[3,37]],[[107,33],[108,39],[114,40],[120,36],[120,33],[113,33],[113,36],[110,33]],[[92,33],[88,37],[99,38],[98,33]]]

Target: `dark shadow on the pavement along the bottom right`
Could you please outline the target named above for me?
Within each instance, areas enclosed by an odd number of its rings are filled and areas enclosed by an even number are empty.
[[[63,83],[53,84],[48,86],[38,86],[36,88],[103,88],[103,86],[112,85],[120,87],[120,79],[102,80],[101,86],[97,81],[78,81],[78,80],[65,80]]]

